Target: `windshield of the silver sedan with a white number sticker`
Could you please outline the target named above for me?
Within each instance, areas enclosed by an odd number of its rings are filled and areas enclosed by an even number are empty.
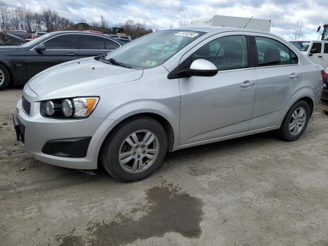
[[[133,69],[157,67],[203,34],[181,30],[153,32],[112,51],[106,59],[113,58]]]

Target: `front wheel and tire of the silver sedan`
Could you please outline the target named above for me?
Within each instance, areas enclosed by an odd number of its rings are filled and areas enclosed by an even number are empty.
[[[133,182],[152,174],[167,151],[163,127],[150,117],[122,122],[106,138],[100,153],[106,171],[122,182]]]

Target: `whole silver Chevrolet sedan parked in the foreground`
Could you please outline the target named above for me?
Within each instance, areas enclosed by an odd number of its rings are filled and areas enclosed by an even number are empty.
[[[75,169],[99,162],[135,181],[167,151],[270,130],[296,140],[319,104],[321,70],[272,33],[157,31],[35,75],[14,125],[38,160]]]

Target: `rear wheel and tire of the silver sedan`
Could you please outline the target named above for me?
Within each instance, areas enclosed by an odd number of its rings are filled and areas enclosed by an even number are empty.
[[[277,135],[285,141],[295,141],[308,126],[310,106],[306,101],[297,101],[285,115]]]

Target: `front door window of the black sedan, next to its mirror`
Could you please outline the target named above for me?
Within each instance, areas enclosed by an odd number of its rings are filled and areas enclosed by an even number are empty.
[[[44,45],[47,50],[76,50],[77,34],[64,34],[47,40]]]

